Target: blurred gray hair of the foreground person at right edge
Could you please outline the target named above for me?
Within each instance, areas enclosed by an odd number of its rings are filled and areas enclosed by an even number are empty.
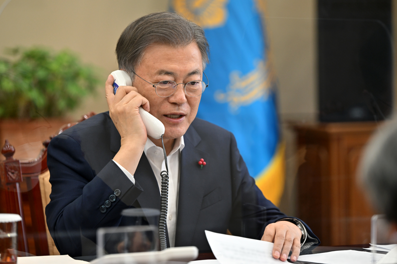
[[[397,222],[397,122],[381,129],[368,143],[358,176],[376,209]]]

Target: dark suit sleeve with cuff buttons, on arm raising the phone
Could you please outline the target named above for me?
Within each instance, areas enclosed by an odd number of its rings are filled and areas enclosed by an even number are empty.
[[[47,164],[52,186],[47,225],[61,254],[84,254],[85,243],[96,243],[96,229],[117,226],[121,211],[142,192],[112,160],[96,174],[79,143],[64,134],[51,140]]]

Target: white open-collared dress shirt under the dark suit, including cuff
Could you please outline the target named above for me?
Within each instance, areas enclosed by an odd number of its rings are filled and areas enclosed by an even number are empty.
[[[175,231],[176,231],[176,218],[177,218],[177,205],[178,205],[178,193],[179,193],[179,163],[180,153],[185,147],[183,136],[177,138],[174,143],[174,147],[170,154],[167,156],[168,162],[168,212],[167,212],[167,230],[168,239],[170,240],[170,246],[175,246]],[[166,170],[166,163],[164,162],[164,153],[162,147],[157,147],[149,139],[146,140],[145,155],[152,167],[154,176],[156,177],[159,191],[161,190],[161,176],[160,172]],[[125,175],[135,184],[135,178],[129,173],[123,166],[119,165],[114,161],[119,168],[125,173]]]

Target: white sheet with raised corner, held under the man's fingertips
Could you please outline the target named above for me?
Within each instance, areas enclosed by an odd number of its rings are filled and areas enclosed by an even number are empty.
[[[207,230],[205,235],[220,264],[285,263],[272,257],[273,243]]]

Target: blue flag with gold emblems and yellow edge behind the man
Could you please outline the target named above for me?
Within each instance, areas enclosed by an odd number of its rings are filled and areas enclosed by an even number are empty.
[[[197,117],[233,132],[251,176],[277,204],[284,186],[284,148],[262,2],[172,0],[172,9],[200,25],[210,44],[204,70],[209,86]]]

